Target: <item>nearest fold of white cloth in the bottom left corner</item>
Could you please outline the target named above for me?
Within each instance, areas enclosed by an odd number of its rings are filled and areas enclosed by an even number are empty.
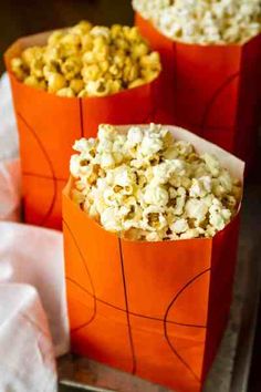
[[[0,285],[0,392],[55,392],[54,352],[38,292]]]

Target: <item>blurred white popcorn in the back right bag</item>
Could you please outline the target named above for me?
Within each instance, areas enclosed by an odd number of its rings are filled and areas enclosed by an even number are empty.
[[[260,0],[133,0],[134,9],[170,39],[241,43],[261,32]]]

